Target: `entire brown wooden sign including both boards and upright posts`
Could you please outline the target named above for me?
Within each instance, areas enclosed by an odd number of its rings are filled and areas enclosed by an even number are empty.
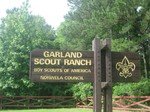
[[[31,51],[30,79],[34,82],[93,82],[93,111],[112,112],[112,83],[140,80],[137,53],[111,52],[111,40],[92,42],[93,51]]]

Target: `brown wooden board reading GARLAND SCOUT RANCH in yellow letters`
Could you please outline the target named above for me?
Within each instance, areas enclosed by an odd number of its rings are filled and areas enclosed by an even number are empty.
[[[30,79],[35,82],[93,82],[93,51],[33,50]]]

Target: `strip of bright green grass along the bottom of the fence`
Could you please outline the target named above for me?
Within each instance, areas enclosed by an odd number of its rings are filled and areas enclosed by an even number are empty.
[[[0,112],[93,112],[93,110],[82,108],[70,108],[70,109],[60,108],[60,109],[0,110]],[[113,112],[127,112],[127,111],[113,111]]]

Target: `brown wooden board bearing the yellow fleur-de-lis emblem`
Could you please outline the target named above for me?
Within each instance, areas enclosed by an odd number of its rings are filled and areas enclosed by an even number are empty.
[[[140,78],[140,57],[138,53],[112,52],[113,82],[138,82]]]

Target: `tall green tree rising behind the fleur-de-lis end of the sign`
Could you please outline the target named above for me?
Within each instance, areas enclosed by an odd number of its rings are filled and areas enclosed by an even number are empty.
[[[58,29],[64,39],[60,45],[65,48],[69,43],[69,49],[89,50],[95,36],[111,38],[113,51],[141,54],[142,76],[149,78],[149,0],[68,0],[68,3],[71,10]]]

